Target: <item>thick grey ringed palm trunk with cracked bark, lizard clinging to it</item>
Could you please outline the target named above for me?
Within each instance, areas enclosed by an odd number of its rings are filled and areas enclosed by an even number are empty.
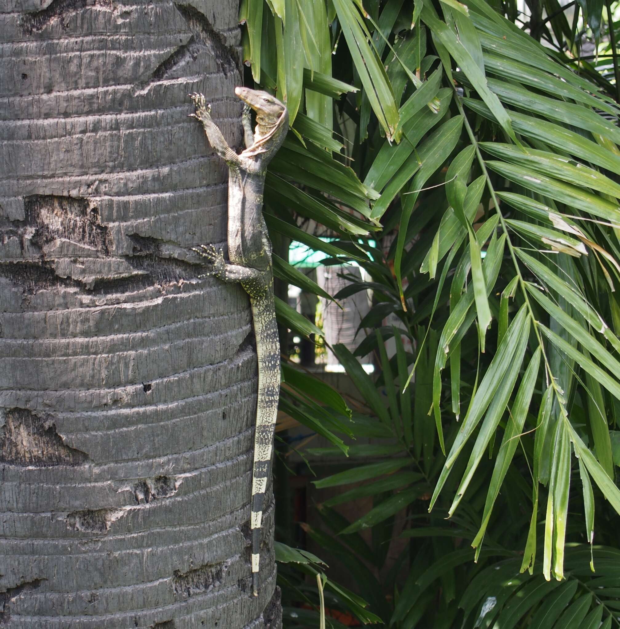
[[[0,0],[0,626],[280,626],[248,298],[157,253],[226,240],[237,9]]]

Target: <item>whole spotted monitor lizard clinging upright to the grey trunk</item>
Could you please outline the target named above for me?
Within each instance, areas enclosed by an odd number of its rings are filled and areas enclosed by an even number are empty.
[[[289,115],[285,106],[267,92],[237,87],[235,94],[246,103],[243,113],[246,148],[239,155],[227,145],[222,132],[212,121],[211,108],[205,104],[204,96],[191,95],[196,109],[191,115],[200,120],[210,145],[229,168],[227,237],[231,262],[227,262],[224,252],[213,245],[202,245],[194,251],[209,261],[212,275],[224,282],[241,282],[250,296],[258,355],[250,520],[252,590],[254,596],[258,596],[260,526],[280,391],[280,343],[273,301],[272,246],[263,218],[263,188],[267,164],[284,142],[289,128]],[[250,108],[256,112],[255,131],[251,128]]]

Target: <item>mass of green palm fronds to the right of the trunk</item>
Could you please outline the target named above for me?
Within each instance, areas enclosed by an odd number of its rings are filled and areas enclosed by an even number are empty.
[[[355,353],[380,368],[333,348],[365,399],[353,413],[284,370],[280,410],[333,443],[314,454],[351,460],[316,486],[357,483],[307,530],[357,593],[282,545],[318,575],[281,571],[285,601],[310,603],[289,626],[318,626],[326,597],[399,628],[620,626],[618,24],[601,0],[527,7],[242,3],[250,82],[292,121],[268,226],[364,268],[336,298],[373,291]],[[326,296],[284,258],[277,277]],[[321,334],[281,300],[278,316]],[[345,520],[338,503],[361,496],[373,508]],[[396,536],[406,552],[386,564]]]

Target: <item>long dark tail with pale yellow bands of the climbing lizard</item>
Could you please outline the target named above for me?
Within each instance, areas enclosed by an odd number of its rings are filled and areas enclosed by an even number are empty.
[[[265,491],[270,477],[273,433],[280,394],[280,340],[275,322],[273,291],[251,299],[252,319],[258,355],[258,403],[252,469],[250,528],[252,535],[252,591],[258,596],[261,520],[265,508]]]

